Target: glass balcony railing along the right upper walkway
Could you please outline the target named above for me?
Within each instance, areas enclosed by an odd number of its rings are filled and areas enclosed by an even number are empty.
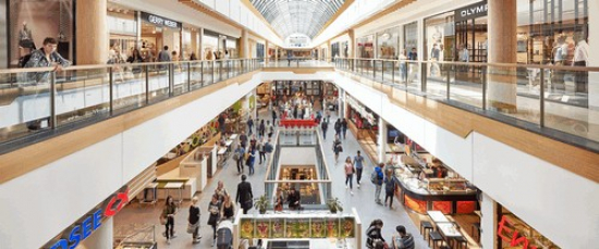
[[[372,59],[335,59],[334,66],[386,86],[381,89],[599,151],[599,67]]]

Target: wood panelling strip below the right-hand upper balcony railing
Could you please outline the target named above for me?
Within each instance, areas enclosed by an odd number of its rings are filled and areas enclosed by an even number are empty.
[[[339,72],[350,77],[350,74]],[[386,90],[391,102],[460,137],[477,132],[519,151],[537,157],[574,174],[599,183],[599,153],[595,153],[549,137],[531,133],[510,124],[464,111],[445,103],[412,95],[398,89],[388,89],[351,75],[366,86]],[[517,165],[514,165],[517,166]]]

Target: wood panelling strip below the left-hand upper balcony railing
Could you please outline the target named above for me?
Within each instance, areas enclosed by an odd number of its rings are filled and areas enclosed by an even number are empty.
[[[231,84],[248,80],[256,72],[247,73],[201,89],[119,115],[71,133],[50,138],[10,153],[0,155],[0,184],[38,167],[54,162],[69,154],[85,149],[146,121],[160,116],[173,109],[185,105],[204,96],[218,91]],[[100,132],[101,130],[101,132]]]

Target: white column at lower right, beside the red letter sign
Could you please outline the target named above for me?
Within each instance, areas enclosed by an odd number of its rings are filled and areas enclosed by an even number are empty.
[[[480,213],[480,244],[482,248],[496,248],[497,204],[496,201],[486,194],[482,194]]]

